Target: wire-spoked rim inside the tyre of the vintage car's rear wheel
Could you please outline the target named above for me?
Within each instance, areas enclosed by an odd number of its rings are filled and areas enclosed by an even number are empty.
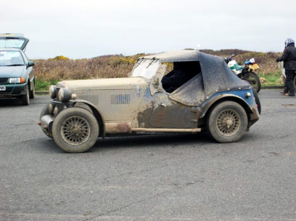
[[[216,127],[224,136],[232,136],[237,133],[241,125],[239,114],[232,109],[223,110],[217,118]]]

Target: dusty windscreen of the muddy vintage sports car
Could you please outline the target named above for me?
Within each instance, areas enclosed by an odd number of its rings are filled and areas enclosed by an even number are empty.
[[[141,59],[135,64],[130,77],[144,77],[150,79],[155,75],[159,64],[158,59]]]

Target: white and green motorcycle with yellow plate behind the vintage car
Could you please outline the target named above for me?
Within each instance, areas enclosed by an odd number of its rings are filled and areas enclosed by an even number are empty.
[[[253,86],[255,91],[258,93],[261,89],[261,82],[258,75],[253,71],[258,70],[259,65],[255,63],[254,58],[247,59],[244,62],[244,65],[242,66],[238,65],[235,60],[233,61],[231,60],[233,57],[235,57],[238,54],[239,53],[232,54],[229,57],[225,57],[224,61],[226,62],[228,67],[234,72],[234,74],[236,74],[242,80],[246,80],[247,82],[249,82]]]

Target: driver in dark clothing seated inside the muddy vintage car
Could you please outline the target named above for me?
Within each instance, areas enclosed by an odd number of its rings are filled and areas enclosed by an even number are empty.
[[[194,75],[196,73],[189,62],[174,62],[173,70],[163,77],[161,83],[166,92],[172,93]]]

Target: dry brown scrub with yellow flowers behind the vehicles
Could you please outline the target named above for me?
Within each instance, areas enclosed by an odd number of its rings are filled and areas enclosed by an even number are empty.
[[[265,75],[278,72],[276,58],[281,53],[275,52],[252,52],[239,49],[232,50],[202,50],[205,53],[216,56],[230,56],[233,53],[240,52],[234,59],[241,63],[245,59],[255,58],[260,66],[260,73]],[[138,57],[144,54],[134,56],[109,55],[100,56],[92,59],[38,59],[34,60],[34,72],[36,79],[42,82],[66,79],[94,79],[94,78],[123,78],[131,72],[133,65]]]

